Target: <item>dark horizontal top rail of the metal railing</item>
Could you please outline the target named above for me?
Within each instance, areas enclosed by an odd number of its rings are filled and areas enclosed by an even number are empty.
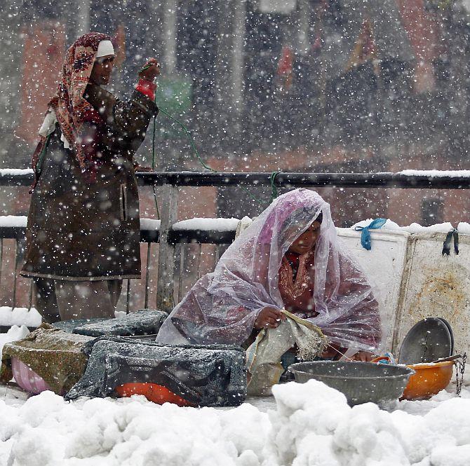
[[[0,186],[30,186],[31,173],[4,174]],[[140,186],[270,186],[271,172],[141,172]],[[399,188],[399,189],[470,189],[467,176],[429,176],[427,174],[379,173],[279,173],[275,183],[285,188]]]

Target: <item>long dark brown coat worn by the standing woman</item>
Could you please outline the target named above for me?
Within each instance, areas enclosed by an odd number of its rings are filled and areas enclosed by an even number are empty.
[[[58,280],[140,278],[139,196],[133,156],[158,108],[135,90],[122,102],[98,85],[84,96],[102,123],[85,128],[99,160],[95,181],[60,142],[48,142],[32,195],[21,275]],[[88,139],[87,139],[88,140]],[[87,143],[88,144],[88,143]]]

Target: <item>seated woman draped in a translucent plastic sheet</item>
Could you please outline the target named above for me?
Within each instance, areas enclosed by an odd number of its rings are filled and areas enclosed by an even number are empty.
[[[276,328],[281,310],[328,336],[322,357],[348,348],[370,360],[380,343],[378,304],[363,272],[337,238],[330,205],[295,189],[274,200],[227,249],[163,323],[159,343],[243,345]]]

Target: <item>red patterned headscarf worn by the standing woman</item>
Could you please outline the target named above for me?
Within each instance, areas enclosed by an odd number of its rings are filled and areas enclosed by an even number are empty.
[[[93,161],[86,160],[83,153],[80,138],[81,128],[83,123],[87,121],[93,123],[100,123],[101,121],[100,114],[83,98],[83,94],[90,80],[98,46],[101,41],[110,40],[110,37],[106,34],[90,32],[74,42],[65,55],[58,92],[49,102],[49,107],[55,111],[55,117],[62,134],[74,150],[83,172],[88,169]],[[41,141],[36,147],[36,151],[34,151],[32,160],[32,167],[35,172],[45,145],[46,137],[41,136]]]

